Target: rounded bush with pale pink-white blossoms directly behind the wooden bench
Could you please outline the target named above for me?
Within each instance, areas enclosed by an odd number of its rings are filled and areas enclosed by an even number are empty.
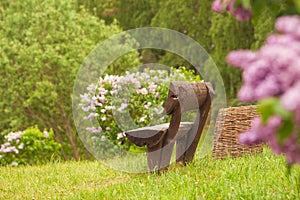
[[[105,149],[106,140],[132,149],[124,137],[125,130],[169,121],[163,110],[171,81],[199,82],[200,77],[183,67],[170,71],[146,69],[124,76],[106,75],[90,84],[81,95],[80,106],[86,112],[83,120],[97,119],[99,126],[86,127],[87,143],[99,147],[98,152]]]

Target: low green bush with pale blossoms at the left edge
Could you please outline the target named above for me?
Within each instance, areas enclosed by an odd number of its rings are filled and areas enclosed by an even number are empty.
[[[43,164],[60,154],[61,145],[54,141],[54,133],[38,127],[10,132],[0,139],[0,165]]]

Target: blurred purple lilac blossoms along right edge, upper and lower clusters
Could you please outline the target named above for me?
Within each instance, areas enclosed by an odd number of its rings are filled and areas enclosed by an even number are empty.
[[[281,34],[270,35],[258,51],[233,51],[227,62],[243,70],[240,100],[276,97],[285,110],[292,112],[295,127],[281,142],[278,130],[284,124],[282,116],[273,115],[266,123],[256,118],[251,130],[240,135],[240,141],[267,142],[275,153],[284,153],[288,163],[300,164],[300,17],[280,17],[275,28]]]

